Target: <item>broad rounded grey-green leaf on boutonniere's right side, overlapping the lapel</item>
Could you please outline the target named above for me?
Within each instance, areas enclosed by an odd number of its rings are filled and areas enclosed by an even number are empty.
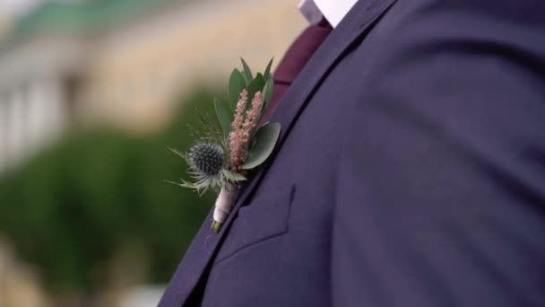
[[[250,149],[246,161],[240,168],[251,170],[265,162],[278,141],[280,130],[280,123],[271,123],[259,128],[254,136],[255,145]]]

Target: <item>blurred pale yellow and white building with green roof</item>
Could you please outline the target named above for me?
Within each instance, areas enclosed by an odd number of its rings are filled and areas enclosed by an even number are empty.
[[[46,1],[0,42],[0,172],[74,124],[162,127],[195,82],[279,59],[305,23],[292,0]]]

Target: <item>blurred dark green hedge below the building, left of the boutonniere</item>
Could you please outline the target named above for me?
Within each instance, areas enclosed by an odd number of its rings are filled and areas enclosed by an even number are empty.
[[[159,134],[80,131],[2,177],[0,233],[50,288],[99,287],[103,267],[126,245],[145,251],[151,282],[169,281],[212,205],[210,195],[163,181],[186,171],[167,147],[190,145],[186,125],[199,127],[193,110],[213,114],[210,92],[181,105]]]

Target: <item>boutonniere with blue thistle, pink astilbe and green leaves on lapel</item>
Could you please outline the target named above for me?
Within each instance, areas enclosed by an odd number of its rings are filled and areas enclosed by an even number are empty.
[[[202,131],[192,130],[195,144],[186,152],[171,149],[184,158],[192,182],[170,182],[195,189],[199,194],[212,189],[218,193],[212,229],[219,232],[238,196],[240,181],[261,165],[272,153],[280,136],[279,123],[267,122],[258,127],[272,97],[269,61],[264,74],[252,75],[247,63],[242,71],[229,76],[227,102],[215,99],[216,120],[198,113]]]

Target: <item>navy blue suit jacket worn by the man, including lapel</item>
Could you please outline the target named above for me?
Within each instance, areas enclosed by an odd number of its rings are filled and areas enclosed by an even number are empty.
[[[160,307],[545,306],[545,1],[360,0],[272,121]]]

